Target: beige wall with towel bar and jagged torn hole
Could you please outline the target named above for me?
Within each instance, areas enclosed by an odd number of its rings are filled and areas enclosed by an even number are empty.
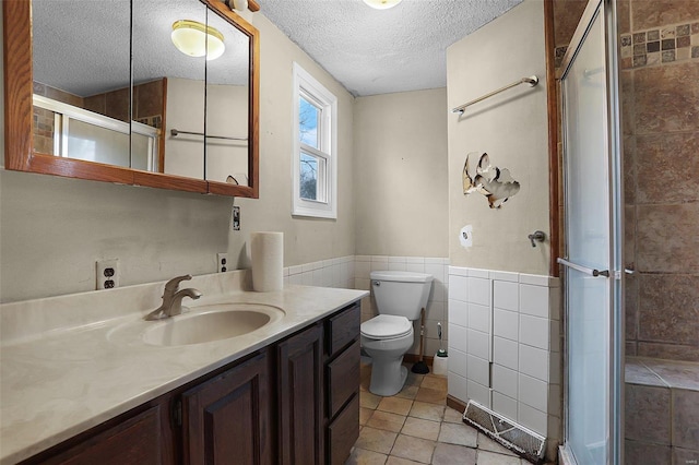
[[[540,84],[506,91],[450,115],[449,257],[455,266],[548,274],[548,242],[532,248],[526,236],[549,234],[548,152],[543,2],[525,0],[507,14],[447,49],[449,108],[477,98],[523,76]],[[510,170],[521,183],[500,210],[490,210],[477,193],[463,194],[466,154],[486,152],[490,163]],[[473,226],[473,247],[459,233]]]

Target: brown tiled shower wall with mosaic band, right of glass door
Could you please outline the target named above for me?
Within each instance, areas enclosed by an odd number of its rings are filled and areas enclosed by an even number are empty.
[[[627,3],[627,354],[699,361],[699,2]]]

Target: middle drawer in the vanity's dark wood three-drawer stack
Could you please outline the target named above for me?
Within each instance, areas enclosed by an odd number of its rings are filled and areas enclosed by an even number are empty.
[[[328,417],[332,418],[359,390],[359,341],[355,341],[337,358],[328,363],[325,379]]]

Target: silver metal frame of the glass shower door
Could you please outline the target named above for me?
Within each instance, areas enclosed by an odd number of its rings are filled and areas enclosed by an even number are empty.
[[[560,119],[562,128],[562,146],[564,153],[566,151],[566,126],[565,126],[565,94],[562,81],[570,70],[571,62],[578,53],[582,43],[587,38],[590,29],[596,19],[602,21],[602,33],[604,35],[604,62],[605,62],[605,84],[606,84],[606,132],[607,132],[607,162],[608,162],[608,208],[609,208],[609,270],[608,270],[608,321],[607,321],[607,347],[608,347],[608,371],[607,371],[607,405],[605,406],[606,413],[606,427],[608,436],[607,441],[607,457],[606,464],[621,465],[624,463],[624,318],[623,318],[623,305],[625,276],[623,267],[623,238],[624,238],[624,224],[623,224],[623,202],[621,193],[624,192],[623,175],[621,175],[621,140],[620,140],[620,94],[619,94],[619,57],[617,45],[617,28],[616,28],[616,2],[615,0],[589,0],[588,5],[582,14],[582,17],[576,28],[570,45],[566,51],[561,63],[561,72],[557,78],[559,82],[559,98],[560,98]],[[562,180],[566,179],[566,164],[561,164]],[[568,192],[567,188],[564,188],[564,205],[567,205]],[[564,211],[564,215],[567,212]],[[567,222],[565,223],[567,224]],[[568,238],[567,231],[565,235],[566,240],[566,258],[568,257]],[[568,276],[568,271],[566,271]],[[568,289],[566,291],[566,298]],[[565,299],[567,302],[567,299]],[[567,314],[567,303],[565,303],[566,310],[566,331],[568,331],[567,322],[569,321]],[[564,389],[564,444],[561,446],[561,456],[564,463],[577,463],[574,455],[570,448],[567,445],[569,434],[569,336],[566,333],[566,345],[564,348],[564,375],[565,375],[565,389]]]

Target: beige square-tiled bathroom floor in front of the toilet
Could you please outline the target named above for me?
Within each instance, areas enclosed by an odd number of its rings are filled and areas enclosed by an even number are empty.
[[[529,465],[447,407],[446,377],[408,373],[400,393],[381,397],[362,365],[359,439],[345,465]]]

